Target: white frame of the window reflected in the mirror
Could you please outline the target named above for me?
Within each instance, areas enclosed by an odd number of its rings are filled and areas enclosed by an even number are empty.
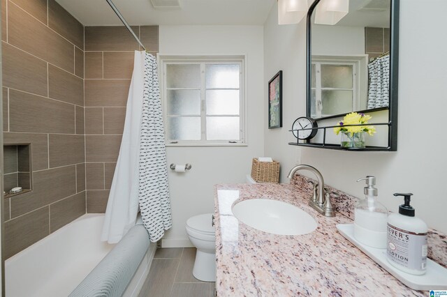
[[[349,90],[353,91],[353,98],[352,98],[352,110],[360,110],[361,104],[360,104],[360,93],[362,93],[362,88],[367,89],[367,82],[366,86],[363,86],[365,82],[362,82],[362,77],[358,75],[360,71],[366,71],[367,70],[367,56],[365,55],[359,55],[359,56],[312,56],[312,64],[315,64],[315,88],[312,87],[312,90],[315,90],[315,102],[320,101],[321,102],[321,93],[324,90]],[[351,65],[353,66],[353,87],[348,89],[342,89],[342,88],[322,88],[321,87],[321,64],[325,65]],[[363,78],[363,80],[367,79],[367,76]],[[316,107],[315,107],[316,108]],[[324,116],[332,116],[332,114],[318,114],[316,111],[316,114],[313,116],[318,117],[324,117]]]

